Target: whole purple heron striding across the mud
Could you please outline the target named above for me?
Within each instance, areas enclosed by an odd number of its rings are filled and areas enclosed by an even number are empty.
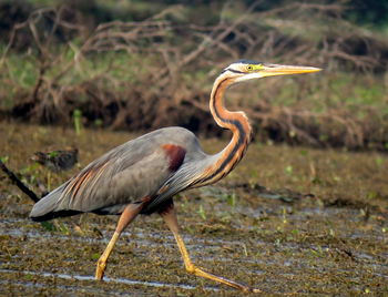
[[[95,278],[102,279],[108,258],[123,229],[139,215],[159,213],[174,234],[185,268],[243,291],[259,291],[195,266],[180,234],[173,196],[184,190],[213,184],[242,160],[251,141],[244,112],[231,112],[223,104],[225,90],[237,82],[265,76],[317,72],[320,69],[241,60],[215,80],[210,109],[215,122],[232,131],[224,150],[208,155],[197,137],[183,127],[164,127],[129,141],[90,163],[78,175],[52,191],[32,208],[33,221],[47,221],[90,212],[120,215],[116,229],[98,260]]]

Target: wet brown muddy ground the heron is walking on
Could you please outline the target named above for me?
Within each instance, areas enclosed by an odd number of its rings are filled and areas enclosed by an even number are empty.
[[[79,167],[134,134],[0,123],[0,156],[37,193],[79,168],[51,173],[35,151],[75,146]],[[207,152],[226,142],[204,140]],[[7,157],[6,157],[7,158]],[[264,293],[388,294],[388,157],[255,142],[216,185],[175,198],[193,260]],[[116,217],[84,214],[51,225],[28,219],[32,202],[0,173],[0,295],[238,296],[185,273],[157,215],[122,235],[105,273],[95,263]]]

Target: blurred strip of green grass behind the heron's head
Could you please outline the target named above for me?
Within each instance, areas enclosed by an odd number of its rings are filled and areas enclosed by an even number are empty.
[[[70,48],[58,47],[54,51],[55,63],[50,65],[45,78],[54,79],[65,65],[75,59],[75,52]],[[4,48],[0,49],[0,54]],[[0,94],[12,98],[20,90],[31,91],[38,80],[40,62],[33,53],[8,53],[1,65]],[[74,65],[58,83],[62,85],[78,85],[83,81],[104,75],[104,88],[118,90],[131,84],[143,83],[153,71],[161,70],[162,63],[150,55],[129,54],[123,51],[102,52],[79,57]],[[208,78],[211,69],[182,69],[178,84],[195,83],[208,92],[212,80]],[[219,69],[221,71],[221,69]],[[113,83],[119,82],[119,84]],[[13,88],[10,88],[10,82]],[[125,83],[122,85],[121,83]],[[251,100],[245,103],[254,104],[258,99],[270,100],[273,105],[295,106],[305,105],[313,111],[326,111],[331,107],[345,107],[349,111],[364,106],[376,107],[382,114],[388,114],[387,86],[384,78],[370,74],[355,75],[345,72],[325,71],[308,78],[266,79],[259,83],[251,83],[249,88],[235,88],[235,93],[248,93]],[[243,92],[242,92],[243,91]],[[233,93],[233,91],[232,91]]]

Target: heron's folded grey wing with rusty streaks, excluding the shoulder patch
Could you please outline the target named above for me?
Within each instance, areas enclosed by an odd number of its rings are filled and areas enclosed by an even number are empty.
[[[167,155],[157,143],[129,142],[89,164],[60,187],[60,195],[53,191],[51,212],[120,213],[124,205],[153,196],[171,174]]]

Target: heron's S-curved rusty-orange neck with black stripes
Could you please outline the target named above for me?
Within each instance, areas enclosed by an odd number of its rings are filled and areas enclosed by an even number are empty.
[[[224,106],[224,92],[233,83],[222,75],[215,81],[211,94],[210,107],[216,123],[232,131],[233,136],[226,147],[212,156],[212,164],[205,170],[201,185],[212,184],[228,174],[244,156],[251,142],[252,129],[244,112],[231,112]]]

